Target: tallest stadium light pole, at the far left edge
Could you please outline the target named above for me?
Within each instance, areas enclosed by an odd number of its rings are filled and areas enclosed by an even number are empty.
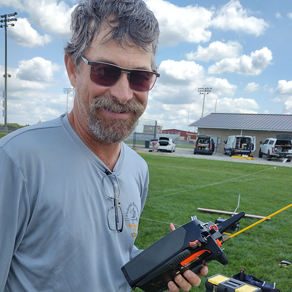
[[[5,28],[5,74],[3,75],[5,78],[5,89],[3,92],[4,133],[8,133],[8,126],[7,126],[7,77],[9,77],[9,78],[11,77],[11,75],[7,73],[7,27],[8,27],[8,25],[15,26],[14,23],[7,24],[7,22],[17,21],[17,18],[9,18],[9,17],[14,17],[16,15],[17,15],[17,13],[15,12],[15,13],[4,14],[4,15],[0,16],[0,18],[4,18],[4,19],[0,20],[1,23],[4,22],[4,24],[0,25],[0,28],[2,28],[2,27]]]

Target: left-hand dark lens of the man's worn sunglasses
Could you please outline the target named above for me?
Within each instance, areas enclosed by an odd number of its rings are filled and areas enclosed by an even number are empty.
[[[118,81],[121,70],[115,66],[102,63],[91,65],[91,81],[102,86],[113,86]]]

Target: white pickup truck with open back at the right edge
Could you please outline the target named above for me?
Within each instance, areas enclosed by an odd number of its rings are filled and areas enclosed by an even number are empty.
[[[260,147],[258,157],[267,155],[267,160],[274,158],[287,158],[287,162],[292,159],[292,136],[277,135],[276,138],[268,138],[264,143],[259,142]]]

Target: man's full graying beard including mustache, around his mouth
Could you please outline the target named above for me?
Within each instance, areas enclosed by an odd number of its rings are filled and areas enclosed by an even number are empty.
[[[129,119],[103,118],[98,115],[100,110],[110,110],[116,113],[131,112]],[[91,115],[87,118],[89,128],[93,135],[107,143],[118,143],[134,131],[138,119],[145,107],[135,99],[128,100],[125,105],[120,104],[112,97],[96,97],[90,105]]]

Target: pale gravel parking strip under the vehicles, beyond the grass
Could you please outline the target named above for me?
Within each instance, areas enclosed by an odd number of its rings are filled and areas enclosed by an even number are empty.
[[[274,165],[274,166],[292,167],[292,162],[283,163],[282,159],[273,158],[271,161],[267,161],[267,158],[265,156],[263,156],[263,158],[258,158],[257,156],[258,151],[254,153],[254,160],[248,160],[248,159],[230,157],[222,153],[213,153],[212,155],[194,154],[193,149],[191,148],[176,147],[175,152],[172,152],[172,153],[160,152],[160,151],[152,153],[152,152],[149,152],[149,150],[151,149],[152,148],[137,146],[135,148],[135,151],[138,153],[149,153],[152,155],[167,155],[167,156],[174,156],[174,157],[188,157],[188,158],[193,158],[193,159],[211,159],[211,160],[231,161],[231,162],[237,162],[237,163],[268,164],[268,165]]]

